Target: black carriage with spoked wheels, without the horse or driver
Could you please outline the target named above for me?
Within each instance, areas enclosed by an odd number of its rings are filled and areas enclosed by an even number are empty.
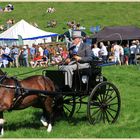
[[[74,112],[80,110],[82,104],[86,104],[87,117],[91,124],[100,121],[114,123],[120,112],[120,93],[116,86],[102,75],[102,66],[105,65],[111,63],[93,61],[90,68],[74,71],[72,88],[65,85],[65,71],[44,70],[43,75],[54,82],[55,93],[60,95],[54,105],[59,104],[65,116],[72,117]]]

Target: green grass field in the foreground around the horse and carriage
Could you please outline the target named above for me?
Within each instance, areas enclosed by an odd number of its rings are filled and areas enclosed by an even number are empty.
[[[52,68],[50,68],[52,69]],[[27,68],[3,69],[9,75],[22,79],[29,75],[41,74],[42,70]],[[32,73],[30,73],[32,71]],[[33,72],[34,71],[34,72]],[[26,75],[19,75],[22,73]],[[55,122],[52,133],[48,134],[40,123],[41,110],[28,108],[6,112],[5,138],[139,138],[140,133],[140,67],[109,66],[103,68],[103,75],[114,83],[121,93],[121,113],[115,124],[90,125],[86,118],[86,106],[74,114],[70,122],[60,119]],[[19,75],[19,76],[18,76]]]

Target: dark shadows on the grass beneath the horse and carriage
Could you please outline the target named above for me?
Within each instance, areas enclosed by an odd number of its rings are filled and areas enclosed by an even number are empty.
[[[40,122],[40,118],[41,118],[41,112],[34,112],[32,114],[32,117],[29,119],[23,118],[21,117],[20,120],[14,121],[14,122],[7,122],[5,124],[5,130],[8,131],[16,131],[18,129],[46,129],[46,127],[44,127],[42,125],[42,123]],[[76,114],[76,116],[79,114]],[[55,125],[56,123],[59,123],[61,121],[66,121],[69,123],[69,125],[78,125],[79,123],[88,123],[88,119],[86,116],[81,116],[81,114],[78,117],[71,117],[71,118],[67,118],[64,115],[60,115],[60,116],[55,116],[55,118],[53,118],[53,125]]]

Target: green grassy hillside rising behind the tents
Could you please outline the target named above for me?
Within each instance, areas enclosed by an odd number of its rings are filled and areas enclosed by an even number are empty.
[[[2,2],[4,7],[7,3]],[[91,26],[134,25],[140,27],[140,4],[138,2],[12,2],[15,10],[11,13],[0,13],[0,24],[7,19],[14,18],[17,21],[25,19],[27,22],[36,22],[39,28],[64,33],[66,23],[75,20],[86,27],[86,33],[90,33]],[[56,12],[47,14],[48,7],[54,7]],[[55,19],[58,25],[55,28],[46,28],[47,22]]]

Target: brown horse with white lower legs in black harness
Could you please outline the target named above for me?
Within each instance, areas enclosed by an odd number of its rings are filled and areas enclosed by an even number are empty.
[[[27,92],[25,89],[33,89],[34,92]],[[48,126],[47,131],[51,132],[53,96],[46,96],[45,93],[43,96],[36,90],[51,93],[55,91],[55,87],[53,82],[44,76],[31,76],[23,80],[5,74],[0,77],[0,135],[4,134],[4,111],[20,110],[30,106],[43,109],[40,121],[44,126]]]

